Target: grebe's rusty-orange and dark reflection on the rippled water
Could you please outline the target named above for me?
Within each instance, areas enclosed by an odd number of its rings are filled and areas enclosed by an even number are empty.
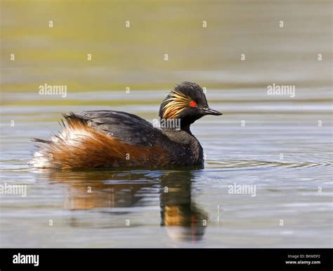
[[[54,171],[47,174],[55,183],[65,184],[65,209],[108,210],[112,216],[130,214],[130,207],[147,202],[144,199],[149,189],[159,189],[160,224],[171,239],[197,241],[202,239],[207,227],[207,213],[192,200],[194,175],[191,171]],[[121,209],[114,212],[114,208]],[[74,221],[70,223],[77,226]]]

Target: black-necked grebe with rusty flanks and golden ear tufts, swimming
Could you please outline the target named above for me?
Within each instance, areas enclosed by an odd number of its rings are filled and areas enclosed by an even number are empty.
[[[162,102],[162,127],[121,111],[63,114],[62,132],[51,140],[33,139],[40,146],[29,163],[54,169],[202,165],[202,146],[190,125],[206,115],[222,113],[211,109],[200,85],[191,82],[176,85]]]

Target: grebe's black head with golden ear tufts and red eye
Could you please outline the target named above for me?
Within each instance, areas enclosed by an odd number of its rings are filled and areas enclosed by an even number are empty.
[[[189,127],[195,120],[206,115],[219,116],[222,113],[209,108],[200,85],[191,82],[176,85],[159,107],[160,118],[178,118],[181,120],[181,127]]]

